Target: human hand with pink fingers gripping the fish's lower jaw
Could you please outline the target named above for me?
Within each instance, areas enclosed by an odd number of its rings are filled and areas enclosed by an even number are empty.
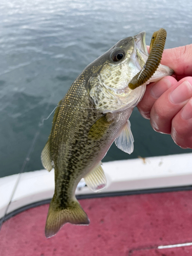
[[[192,148],[192,45],[164,50],[161,64],[175,73],[148,84],[138,110],[156,132]]]

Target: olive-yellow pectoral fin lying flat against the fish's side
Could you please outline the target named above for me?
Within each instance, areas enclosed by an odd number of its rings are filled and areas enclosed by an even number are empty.
[[[100,117],[90,128],[88,136],[94,140],[99,140],[109,129],[113,120],[108,120],[108,113]]]

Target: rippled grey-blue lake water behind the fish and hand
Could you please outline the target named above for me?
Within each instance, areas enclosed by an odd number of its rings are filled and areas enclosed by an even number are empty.
[[[162,27],[165,48],[192,42],[189,0],[1,0],[0,20],[1,177],[42,168],[53,115],[40,126],[42,119],[77,75],[117,41],[145,30],[150,44]],[[104,161],[191,152],[154,132],[137,109],[130,120],[134,152],[127,155],[113,144]]]

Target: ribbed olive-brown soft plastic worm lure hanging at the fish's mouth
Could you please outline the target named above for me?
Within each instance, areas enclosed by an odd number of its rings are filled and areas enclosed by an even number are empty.
[[[129,88],[134,90],[150,79],[157,70],[166,40],[166,30],[160,29],[153,33],[150,44],[150,55],[141,71],[139,71],[129,83]]]

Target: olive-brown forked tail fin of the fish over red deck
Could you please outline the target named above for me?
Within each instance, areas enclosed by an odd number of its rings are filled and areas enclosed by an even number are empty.
[[[65,208],[59,207],[55,199],[51,200],[45,234],[47,238],[53,237],[65,223],[89,225],[90,220],[77,200],[72,201]]]

